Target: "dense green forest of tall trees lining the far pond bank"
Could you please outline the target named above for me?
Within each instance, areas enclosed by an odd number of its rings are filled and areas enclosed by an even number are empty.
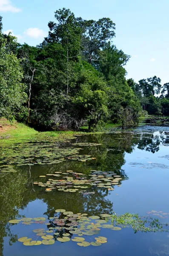
[[[113,44],[112,20],[83,20],[65,8],[54,17],[37,47],[3,34],[0,17],[0,117],[48,130],[95,130],[124,116],[136,124],[146,111],[169,115],[169,83],[126,79],[130,56]]]

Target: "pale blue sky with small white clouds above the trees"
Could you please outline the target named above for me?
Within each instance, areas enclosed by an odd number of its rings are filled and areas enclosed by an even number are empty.
[[[63,7],[83,19],[113,20],[113,43],[131,55],[127,78],[158,76],[161,84],[169,82],[169,0],[0,0],[3,32],[36,46],[48,35],[54,11]]]

